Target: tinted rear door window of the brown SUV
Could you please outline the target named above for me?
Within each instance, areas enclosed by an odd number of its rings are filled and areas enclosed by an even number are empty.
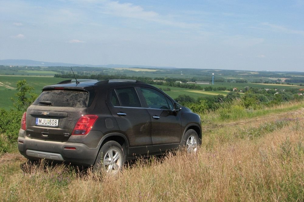
[[[138,95],[134,88],[118,88],[115,90],[123,107],[141,107]],[[114,105],[115,106],[115,105]]]

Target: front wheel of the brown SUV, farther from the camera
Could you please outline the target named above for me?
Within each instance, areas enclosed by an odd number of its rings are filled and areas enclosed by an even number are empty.
[[[195,153],[199,147],[199,136],[195,130],[190,129],[186,131],[181,143],[188,153]]]

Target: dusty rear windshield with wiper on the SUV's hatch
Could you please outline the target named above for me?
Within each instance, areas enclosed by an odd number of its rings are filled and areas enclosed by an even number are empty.
[[[86,91],[43,91],[33,105],[54,107],[88,107],[89,93]]]

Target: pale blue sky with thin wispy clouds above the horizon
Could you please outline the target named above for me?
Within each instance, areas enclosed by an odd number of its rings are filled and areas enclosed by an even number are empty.
[[[0,0],[0,59],[304,71],[304,0]]]

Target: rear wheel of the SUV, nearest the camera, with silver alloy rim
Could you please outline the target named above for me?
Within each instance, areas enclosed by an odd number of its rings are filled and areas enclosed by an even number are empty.
[[[94,171],[104,169],[109,174],[116,174],[123,169],[124,162],[125,156],[121,145],[116,141],[109,141],[100,148]]]

